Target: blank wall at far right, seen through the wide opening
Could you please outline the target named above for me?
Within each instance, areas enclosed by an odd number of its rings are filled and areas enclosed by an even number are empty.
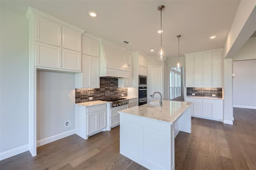
[[[233,106],[256,109],[256,59],[233,62]]]

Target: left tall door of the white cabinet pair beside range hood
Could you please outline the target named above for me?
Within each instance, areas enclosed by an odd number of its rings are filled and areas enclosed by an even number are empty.
[[[91,56],[82,55],[82,88],[91,87]]]

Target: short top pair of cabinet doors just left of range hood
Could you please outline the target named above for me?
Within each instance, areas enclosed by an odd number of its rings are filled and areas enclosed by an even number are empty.
[[[82,35],[82,53],[99,57],[99,39],[91,38],[89,34]]]

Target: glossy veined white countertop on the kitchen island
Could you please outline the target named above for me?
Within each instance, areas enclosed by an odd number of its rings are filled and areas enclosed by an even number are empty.
[[[124,109],[118,113],[132,114],[158,122],[173,124],[190,105],[190,102],[163,100],[163,106],[160,107],[159,101],[153,101],[145,105]]]

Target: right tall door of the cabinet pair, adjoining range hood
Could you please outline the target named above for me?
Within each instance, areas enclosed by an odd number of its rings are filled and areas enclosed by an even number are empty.
[[[91,57],[91,87],[99,88],[99,58]]]

